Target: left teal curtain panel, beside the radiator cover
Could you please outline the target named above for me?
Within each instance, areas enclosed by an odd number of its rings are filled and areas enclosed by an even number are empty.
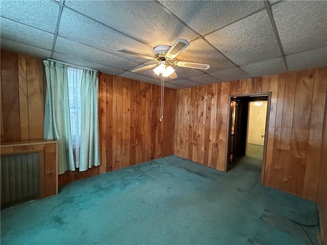
[[[46,76],[44,139],[58,140],[58,171],[75,170],[68,102],[67,65],[43,60]]]

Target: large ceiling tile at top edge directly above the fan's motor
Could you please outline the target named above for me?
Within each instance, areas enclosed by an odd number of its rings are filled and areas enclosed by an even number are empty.
[[[153,47],[196,35],[155,1],[66,0],[65,5]]]

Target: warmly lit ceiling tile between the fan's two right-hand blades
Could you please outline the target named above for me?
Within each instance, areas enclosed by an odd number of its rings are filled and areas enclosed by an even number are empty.
[[[222,56],[214,47],[200,38],[190,43],[185,50],[176,57],[180,61],[209,64],[210,68],[202,70],[209,73],[235,67],[233,63]]]

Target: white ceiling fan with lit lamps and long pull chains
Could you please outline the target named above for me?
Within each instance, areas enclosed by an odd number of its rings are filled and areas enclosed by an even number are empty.
[[[154,57],[150,57],[143,54],[138,54],[129,50],[124,50],[119,48],[118,51],[130,55],[135,55],[145,59],[153,60],[156,63],[146,65],[144,67],[132,70],[132,72],[138,72],[141,70],[146,70],[154,68],[153,71],[156,75],[161,74],[161,109],[160,109],[160,121],[164,118],[164,88],[165,88],[165,77],[170,77],[171,79],[177,78],[177,74],[172,65],[179,67],[195,68],[207,70],[210,68],[208,64],[200,64],[186,61],[178,61],[174,59],[176,56],[182,52],[190,43],[185,39],[178,38],[172,46],[169,45],[159,45],[153,48]]]

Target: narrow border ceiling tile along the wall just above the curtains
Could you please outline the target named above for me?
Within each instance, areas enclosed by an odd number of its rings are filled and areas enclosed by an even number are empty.
[[[96,69],[96,70],[99,70],[100,72],[103,72],[106,74],[111,74],[111,75],[119,75],[122,72],[124,72],[124,70],[121,70],[121,69],[113,68],[113,67],[106,66],[106,65],[101,65],[98,63],[86,61],[86,60],[76,58],[73,56],[69,56],[69,55],[59,54],[56,52],[54,52],[54,54],[53,54],[53,59],[62,61],[62,62],[66,62],[66,63],[72,64],[72,65]]]

